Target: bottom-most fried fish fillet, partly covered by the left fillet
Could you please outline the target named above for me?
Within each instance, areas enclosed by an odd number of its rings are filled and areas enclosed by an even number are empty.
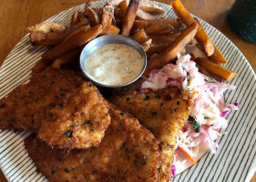
[[[37,171],[50,182],[159,181],[159,140],[127,113],[116,108],[109,113],[111,124],[98,147],[65,153],[27,137],[26,149]]]

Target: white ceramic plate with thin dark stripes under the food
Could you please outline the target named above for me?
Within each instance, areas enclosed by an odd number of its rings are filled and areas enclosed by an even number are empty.
[[[105,3],[100,1],[92,5],[100,7]],[[166,16],[175,17],[169,5],[156,4],[166,9]],[[84,5],[78,5],[46,22],[68,25],[73,12],[83,9]],[[217,140],[220,145],[217,154],[206,153],[194,166],[177,175],[174,181],[250,181],[256,166],[256,77],[246,58],[225,35],[202,20],[200,23],[227,58],[228,64],[225,66],[238,73],[230,82],[237,88],[225,93],[225,100],[228,103],[238,102],[241,107],[227,116],[230,121],[228,134]],[[28,35],[15,45],[0,69],[0,98],[27,82],[32,75],[31,68],[44,51],[45,47],[30,45]],[[35,164],[27,155],[23,141],[29,134],[25,131],[15,133],[13,130],[0,133],[0,167],[8,181],[46,181],[44,176],[36,172]]]

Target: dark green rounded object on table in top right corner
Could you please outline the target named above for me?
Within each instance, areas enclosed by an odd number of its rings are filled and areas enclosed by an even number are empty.
[[[238,35],[256,44],[256,0],[236,0],[228,21]]]

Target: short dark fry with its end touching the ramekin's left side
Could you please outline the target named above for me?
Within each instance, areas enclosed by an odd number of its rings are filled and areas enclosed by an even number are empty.
[[[80,52],[81,52],[81,50],[77,50],[77,51],[73,51],[73,52],[67,53],[63,56],[56,58],[56,60],[54,60],[54,62],[52,64],[52,67],[55,69],[60,69],[61,66],[65,65],[71,61],[77,60],[80,55]]]

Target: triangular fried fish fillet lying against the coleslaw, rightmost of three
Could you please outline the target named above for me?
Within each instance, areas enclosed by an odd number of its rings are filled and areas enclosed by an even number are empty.
[[[177,134],[184,126],[192,104],[189,92],[168,87],[158,91],[131,91],[110,100],[118,108],[137,117],[142,126],[159,138],[163,160],[160,181],[169,181]]]

